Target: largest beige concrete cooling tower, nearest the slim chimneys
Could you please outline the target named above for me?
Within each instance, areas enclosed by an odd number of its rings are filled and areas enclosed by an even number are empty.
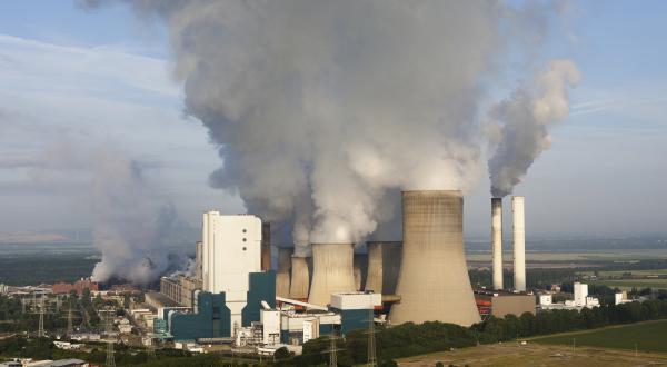
[[[470,326],[479,313],[464,254],[461,191],[404,191],[404,246],[391,324]]]

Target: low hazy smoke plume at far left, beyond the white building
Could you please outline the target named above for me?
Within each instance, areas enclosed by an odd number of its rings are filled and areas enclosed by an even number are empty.
[[[92,280],[113,277],[147,285],[170,265],[165,241],[177,219],[176,209],[160,204],[139,162],[102,150],[94,163],[93,245],[102,259]]]

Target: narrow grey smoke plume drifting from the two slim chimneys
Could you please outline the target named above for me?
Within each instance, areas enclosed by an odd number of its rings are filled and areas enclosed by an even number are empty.
[[[511,194],[535,159],[549,148],[549,128],[569,113],[567,87],[576,86],[579,79],[573,61],[552,60],[532,83],[492,109],[492,119],[502,123],[496,152],[489,159],[494,197]]]

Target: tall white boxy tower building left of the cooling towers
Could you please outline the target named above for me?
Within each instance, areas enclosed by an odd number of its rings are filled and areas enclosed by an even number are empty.
[[[203,214],[203,290],[225,292],[231,325],[241,325],[248,274],[261,271],[261,220],[251,215]]]

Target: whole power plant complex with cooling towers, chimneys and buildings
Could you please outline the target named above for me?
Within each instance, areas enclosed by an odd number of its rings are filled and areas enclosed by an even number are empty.
[[[207,211],[192,274],[162,277],[155,335],[233,340],[238,346],[301,345],[371,323],[441,321],[470,326],[480,315],[535,313],[526,294],[524,198],[514,197],[514,292],[502,284],[502,199],[491,199],[492,291],[472,290],[464,250],[459,190],[401,194],[402,241],[311,244],[311,257],[276,247],[266,269],[269,226],[252,215]],[[157,296],[156,296],[157,295]],[[225,341],[228,343],[228,341]],[[262,347],[263,348],[263,347]]]

